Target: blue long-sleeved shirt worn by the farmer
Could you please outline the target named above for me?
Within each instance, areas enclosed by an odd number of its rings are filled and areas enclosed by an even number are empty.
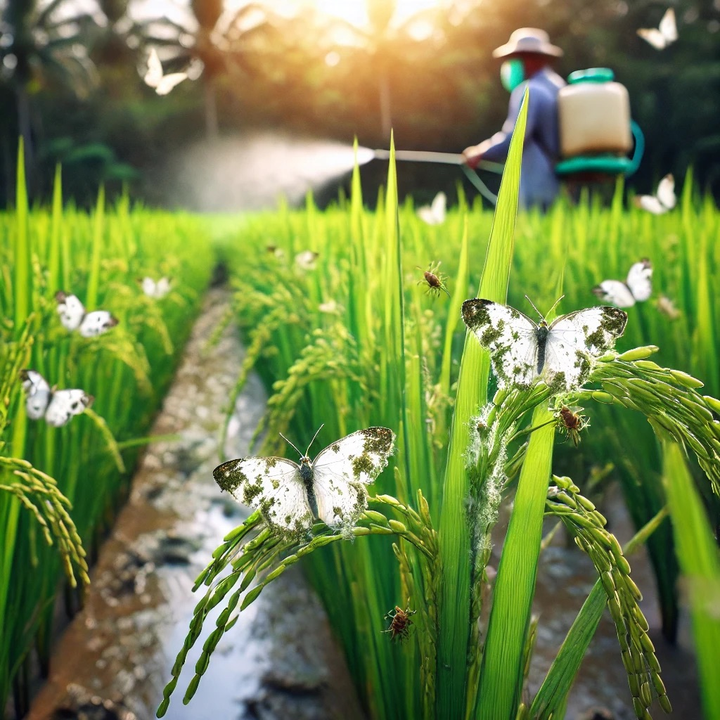
[[[482,159],[503,162],[508,157],[513,134],[526,87],[530,88],[528,118],[523,145],[520,176],[521,207],[547,207],[557,196],[559,181],[554,164],[559,158],[557,93],[565,81],[550,68],[543,68],[524,81],[510,94],[508,119],[482,146]]]

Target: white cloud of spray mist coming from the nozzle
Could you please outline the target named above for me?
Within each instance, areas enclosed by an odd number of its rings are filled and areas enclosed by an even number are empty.
[[[374,156],[358,149],[361,165]],[[199,212],[262,210],[276,207],[280,197],[297,204],[308,191],[348,174],[354,162],[352,146],[343,143],[274,133],[223,138],[192,145],[171,160],[156,181],[166,193],[158,199]]]

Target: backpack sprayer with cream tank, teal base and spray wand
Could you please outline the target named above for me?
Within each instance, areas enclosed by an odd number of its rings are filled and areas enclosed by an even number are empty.
[[[595,180],[598,176],[630,176],[640,165],[645,148],[639,125],[630,119],[630,99],[609,68],[570,73],[557,96],[560,155],[555,172],[563,179]],[[631,158],[627,153],[633,148]],[[389,160],[389,150],[373,150],[377,160]],[[495,204],[498,196],[467,166],[460,153],[395,150],[395,160],[443,163],[462,168],[482,197]],[[480,160],[477,167],[502,174],[503,163]]]

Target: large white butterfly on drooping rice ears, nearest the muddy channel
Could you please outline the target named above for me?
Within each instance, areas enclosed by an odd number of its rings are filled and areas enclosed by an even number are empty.
[[[388,428],[366,428],[326,447],[312,462],[307,451],[299,465],[282,457],[247,457],[224,462],[212,475],[281,533],[302,534],[315,518],[350,527],[366,509],[365,486],[387,465],[394,441]]]

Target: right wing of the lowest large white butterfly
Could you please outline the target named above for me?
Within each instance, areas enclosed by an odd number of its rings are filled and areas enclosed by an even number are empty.
[[[367,507],[369,485],[387,467],[395,442],[389,428],[366,428],[326,447],[312,463],[318,517],[330,526],[352,526]]]

